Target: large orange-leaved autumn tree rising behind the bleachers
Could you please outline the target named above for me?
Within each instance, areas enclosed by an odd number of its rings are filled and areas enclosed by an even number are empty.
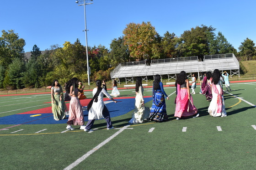
[[[144,55],[152,56],[153,44],[157,38],[157,32],[150,22],[142,24],[130,23],[123,30],[124,45],[128,45],[129,52],[136,60],[144,60]]]

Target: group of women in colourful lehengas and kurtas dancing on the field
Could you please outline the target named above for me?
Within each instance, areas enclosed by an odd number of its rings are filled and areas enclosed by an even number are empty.
[[[224,75],[227,74],[224,72]],[[208,113],[213,116],[226,117],[227,113],[225,111],[224,105],[224,96],[222,90],[222,84],[225,83],[222,74],[218,69],[215,69],[212,74],[206,73],[204,78],[205,81],[202,82],[201,90],[205,94],[206,99],[210,100],[211,103],[208,107]],[[192,75],[194,77],[194,75]],[[52,110],[53,117],[55,120],[66,118],[65,110],[67,107],[64,103],[64,96],[62,87],[59,85],[58,80],[54,80],[54,86],[52,87]],[[193,104],[193,98],[190,93],[189,80],[185,71],[181,71],[176,79],[176,99],[175,99],[175,113],[174,116],[176,120],[181,118],[193,117],[197,118],[199,113],[195,105]],[[93,98],[90,103],[87,105],[88,111],[88,122],[85,126],[84,114],[82,106],[80,104],[78,93],[82,93],[80,90],[79,81],[76,77],[72,78],[66,82],[66,93],[71,97],[69,103],[69,119],[67,122],[66,129],[74,130],[71,125],[80,125],[80,129],[84,131],[91,131],[95,119],[105,118],[107,122],[107,129],[113,129],[112,121],[110,118],[109,111],[106,105],[103,102],[103,98],[107,97],[111,99],[114,103],[117,103],[112,96],[116,97],[120,95],[117,90],[117,82],[113,83],[112,94],[107,93],[105,81],[101,80],[96,81],[96,88],[93,89],[92,94]],[[229,86],[228,86],[229,87]],[[195,93],[194,89],[196,88],[196,78],[192,78],[192,94]],[[229,90],[230,87],[229,87]],[[129,121],[129,124],[139,124],[145,121],[156,121],[162,122],[168,119],[166,112],[166,103],[165,98],[169,100],[168,95],[165,93],[163,83],[161,82],[160,75],[154,76],[153,90],[152,90],[152,107],[149,109],[144,106],[143,92],[144,88],[142,87],[142,78],[137,77],[136,86],[135,86],[135,109],[132,114],[132,118]],[[201,93],[201,92],[200,92]]]

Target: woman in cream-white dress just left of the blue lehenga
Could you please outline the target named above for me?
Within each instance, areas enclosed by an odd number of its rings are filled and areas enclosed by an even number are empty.
[[[135,86],[135,110],[129,124],[143,123],[145,120],[147,120],[147,118],[149,118],[150,109],[144,106],[143,91],[142,78],[137,77]]]

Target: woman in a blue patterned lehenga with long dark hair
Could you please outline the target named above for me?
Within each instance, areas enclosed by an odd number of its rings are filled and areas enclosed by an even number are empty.
[[[162,122],[168,119],[166,113],[165,96],[167,100],[169,100],[169,97],[165,93],[163,83],[161,82],[160,75],[156,74],[155,81],[153,82],[153,103],[149,114],[150,120]]]

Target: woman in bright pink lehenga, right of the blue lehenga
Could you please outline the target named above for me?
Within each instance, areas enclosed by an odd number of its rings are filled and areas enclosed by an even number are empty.
[[[193,116],[196,118],[199,116],[197,108],[193,105],[193,98],[189,93],[189,80],[187,79],[186,72],[181,71],[176,79],[176,108],[175,114],[176,120],[180,120],[181,117]]]

